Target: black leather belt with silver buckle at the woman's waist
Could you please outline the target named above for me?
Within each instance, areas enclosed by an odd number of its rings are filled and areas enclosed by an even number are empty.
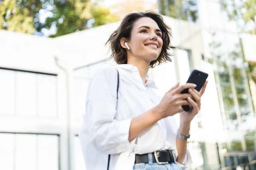
[[[168,163],[176,162],[175,156],[172,150],[158,150],[153,153],[146,153],[143,155],[136,154],[135,164],[148,163],[148,154],[152,154],[153,162],[157,162],[158,164],[168,164]]]

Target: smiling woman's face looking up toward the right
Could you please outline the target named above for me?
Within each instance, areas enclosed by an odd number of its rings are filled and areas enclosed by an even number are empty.
[[[161,37],[162,32],[157,23],[149,17],[142,17],[134,22],[128,46],[134,57],[150,63],[161,53],[163,46]]]

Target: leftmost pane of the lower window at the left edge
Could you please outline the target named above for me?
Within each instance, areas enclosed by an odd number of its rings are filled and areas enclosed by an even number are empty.
[[[14,168],[14,134],[0,133],[0,170]]]

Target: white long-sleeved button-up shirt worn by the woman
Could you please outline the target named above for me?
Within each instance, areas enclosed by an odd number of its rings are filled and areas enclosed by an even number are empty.
[[[116,101],[117,70],[119,91]],[[166,117],[129,142],[131,119],[150,110],[162,99],[151,88],[153,81],[143,85],[137,67],[133,65],[108,65],[97,71],[87,91],[86,113],[79,133],[87,170],[133,170],[135,154],[156,150],[174,150],[177,158],[177,124],[173,116]],[[190,164],[186,153],[181,167]]]

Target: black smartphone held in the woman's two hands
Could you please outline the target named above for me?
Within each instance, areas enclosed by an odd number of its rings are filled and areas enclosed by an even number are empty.
[[[200,91],[201,88],[203,87],[206,79],[208,77],[207,73],[204,73],[203,71],[199,71],[194,69],[191,74],[189,75],[189,79],[187,80],[187,83],[193,83],[196,84],[195,90]],[[183,91],[181,91],[181,94],[184,93],[189,93],[189,89],[184,89]],[[190,107],[189,105],[183,105],[182,106],[184,111],[189,111]]]

